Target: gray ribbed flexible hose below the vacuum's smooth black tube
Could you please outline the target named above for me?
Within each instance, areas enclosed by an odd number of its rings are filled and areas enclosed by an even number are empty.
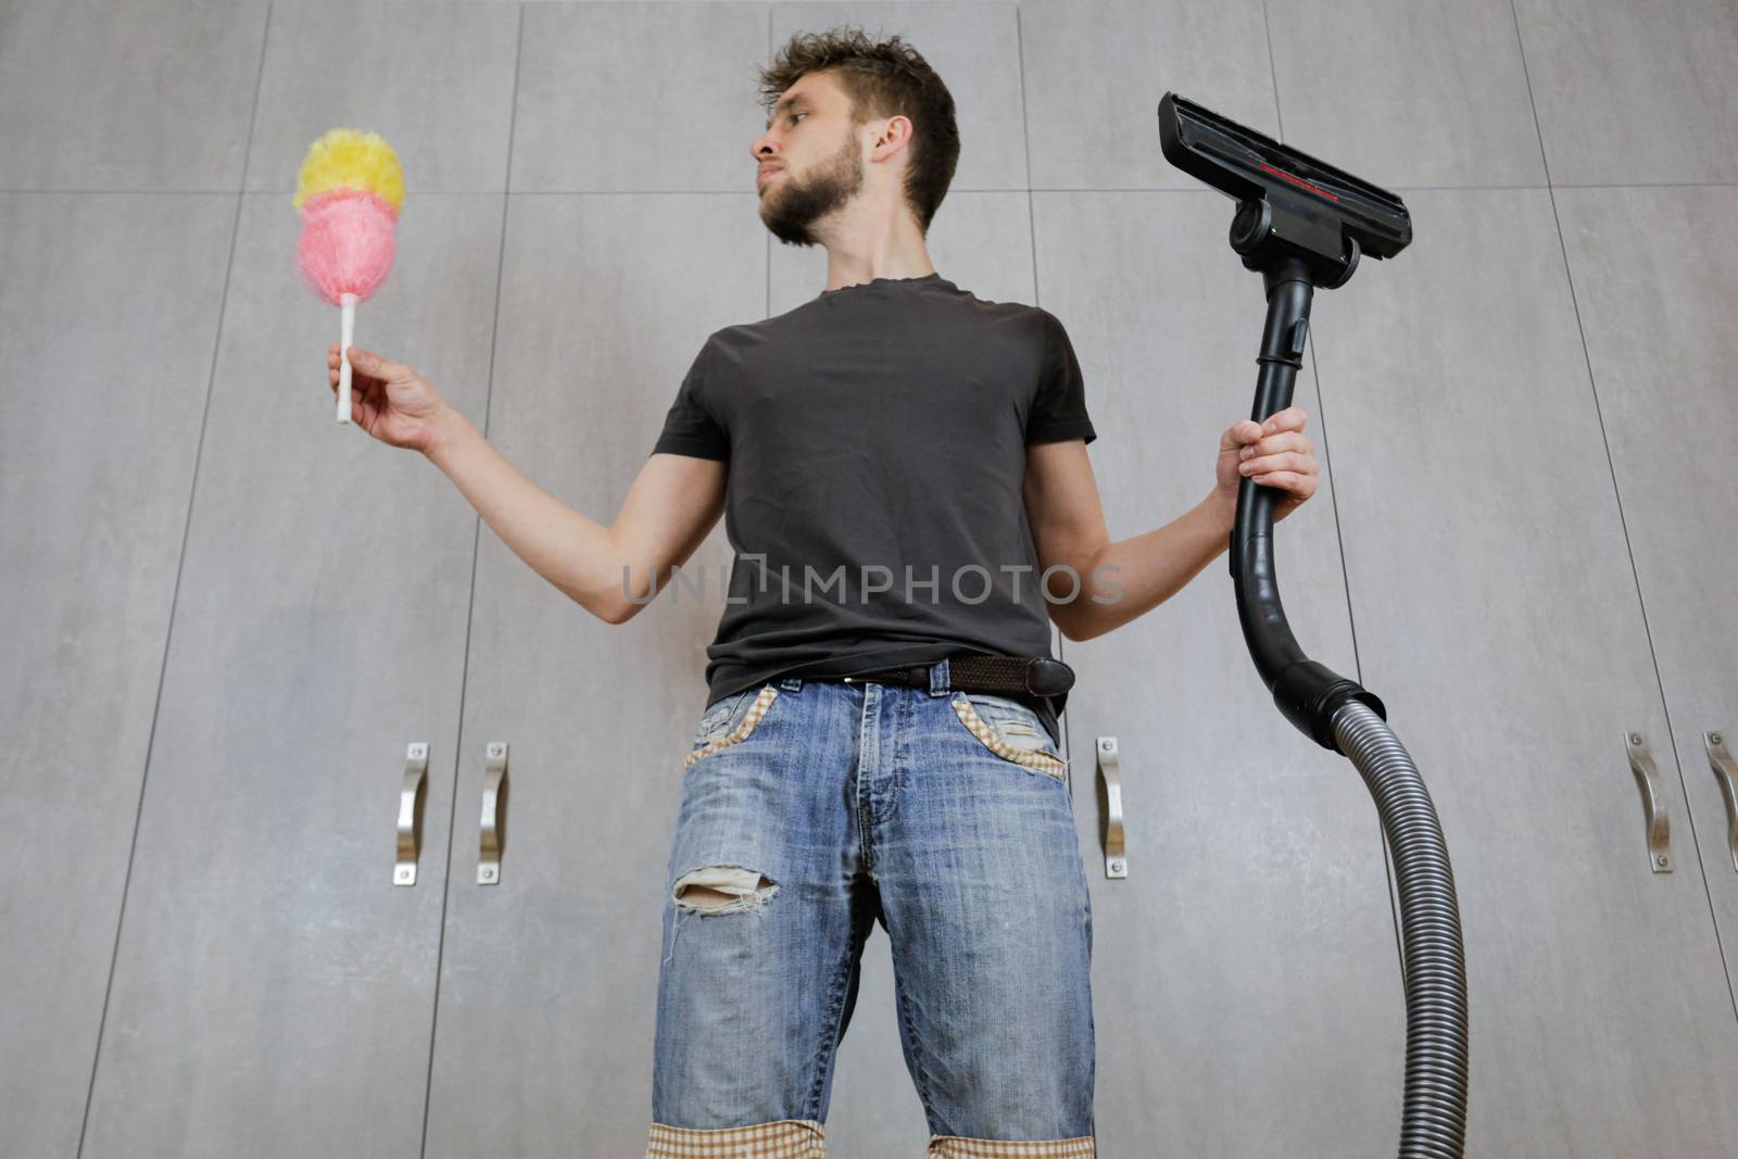
[[[1401,1159],[1460,1159],[1467,1114],[1467,970],[1448,843],[1418,766],[1361,700],[1333,712],[1333,737],[1382,817],[1401,886],[1406,1100]]]

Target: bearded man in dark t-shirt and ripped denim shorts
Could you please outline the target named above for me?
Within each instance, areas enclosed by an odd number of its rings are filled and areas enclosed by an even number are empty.
[[[356,421],[422,450],[612,624],[726,514],[737,560],[664,883],[647,1157],[824,1157],[876,921],[930,1157],[1090,1157],[1065,690],[961,674],[1048,659],[1051,622],[1090,639],[1168,599],[1227,547],[1244,476],[1290,514],[1316,488],[1305,415],[1232,424],[1213,493],[1111,542],[1060,321],[961,290],[926,254],[959,151],[940,78],[899,36],[834,30],[794,36],[761,83],[761,221],[822,245],[827,287],[707,337],[614,525],[541,492],[412,370],[353,349]],[[335,389],[335,348],[328,370]]]

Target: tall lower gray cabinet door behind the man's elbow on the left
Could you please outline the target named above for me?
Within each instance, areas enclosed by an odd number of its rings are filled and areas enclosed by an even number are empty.
[[[511,198],[487,427],[473,421],[605,527],[706,337],[765,311],[753,198]],[[683,565],[706,593],[662,591],[610,626],[483,528],[429,1159],[643,1154],[664,871],[728,561],[720,523]],[[492,742],[507,745],[506,841],[483,886]]]

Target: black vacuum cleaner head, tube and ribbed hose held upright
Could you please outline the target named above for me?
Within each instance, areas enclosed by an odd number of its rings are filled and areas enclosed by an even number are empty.
[[[1361,254],[1387,259],[1411,242],[1397,196],[1345,170],[1211,113],[1175,92],[1159,101],[1164,160],[1229,195],[1231,248],[1262,275],[1267,325],[1257,356],[1255,410],[1265,422],[1291,405],[1316,287],[1338,288]],[[1387,711],[1357,681],[1304,655],[1274,572],[1279,495],[1244,478],[1231,532],[1237,619],[1281,714],[1324,749],[1347,756],[1376,801],[1401,893],[1406,987],[1406,1093],[1401,1159],[1460,1159],[1467,1128],[1467,966],[1448,844],[1436,806]]]

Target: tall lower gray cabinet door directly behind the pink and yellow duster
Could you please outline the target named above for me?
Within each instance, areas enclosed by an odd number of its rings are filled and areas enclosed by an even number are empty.
[[[358,311],[360,346],[464,408],[487,382],[501,212],[424,195]],[[422,455],[334,421],[337,309],[285,290],[297,228],[282,195],[243,196],[210,400],[191,400],[85,1156],[421,1149],[476,516]],[[184,354],[162,361],[198,374]],[[429,745],[422,860],[395,886],[410,742]]]

